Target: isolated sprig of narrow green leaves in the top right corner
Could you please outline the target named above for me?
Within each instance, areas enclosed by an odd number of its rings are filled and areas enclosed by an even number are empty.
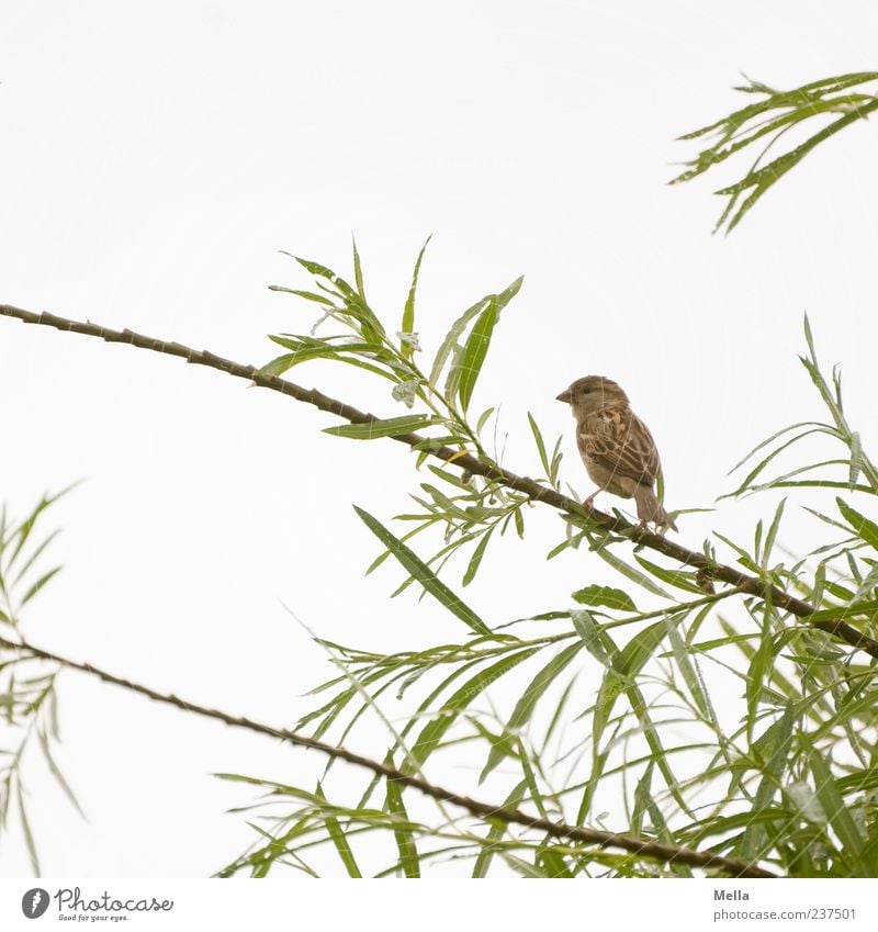
[[[875,81],[878,81],[878,71],[859,71],[812,81],[792,91],[778,91],[747,79],[746,85],[735,90],[759,99],[709,126],[680,136],[685,141],[712,137],[712,142],[694,159],[685,162],[686,170],[671,183],[697,178],[748,146],[758,148],[759,153],[746,175],[716,192],[728,198],[716,229],[725,225],[729,233],[759,198],[808,153],[846,126],[865,120],[878,110],[875,87],[870,93],[851,90]],[[804,128],[806,123],[811,127],[814,120],[824,124],[822,128],[787,151],[775,154],[770,161],[765,160],[769,151],[776,150],[786,133]]]

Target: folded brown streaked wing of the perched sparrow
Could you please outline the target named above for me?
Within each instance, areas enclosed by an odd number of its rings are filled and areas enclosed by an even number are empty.
[[[630,408],[604,408],[578,426],[579,450],[615,475],[652,485],[661,464],[646,425]]]

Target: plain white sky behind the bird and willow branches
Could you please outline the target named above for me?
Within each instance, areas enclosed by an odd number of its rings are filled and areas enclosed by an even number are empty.
[[[554,395],[607,374],[658,441],[668,505],[707,506],[757,440],[822,416],[796,360],[806,310],[876,440],[878,137],[865,124],[821,147],[728,239],[710,236],[710,191],[738,176],[666,187],[695,153],[674,137],[740,105],[740,71],[793,87],[874,68],[877,29],[873,2],[8,0],[0,302],[264,362],[267,333],[312,321],[267,291],[309,283],[279,249],[348,273],[353,231],[372,304],[395,321],[432,233],[418,324],[430,349],[463,307],[526,276],[476,398],[503,402],[511,469],[537,470],[530,409],[565,433],[565,478],[587,491]],[[333,367],[293,378],[403,413]],[[428,602],[387,600],[398,570],[362,577],[378,549],[351,503],[382,520],[405,509],[416,479],[397,445],[329,438],[331,418],[279,395],[13,321],[0,321],[0,397],[14,513],[87,480],[47,521],[64,528],[66,570],[25,616],[34,642],[291,723],[329,669],[282,603],[357,645],[458,636]],[[767,505],[687,518],[680,540],[750,535]],[[802,549],[812,532],[793,509],[781,537]],[[558,534],[534,515],[469,600],[502,621],[610,579],[583,553],[545,564]],[[251,798],[211,773],[318,772],[78,674],[60,699],[58,759],[89,821],[34,756],[49,876],[210,874],[250,839],[222,812]],[[0,873],[29,869],[13,822]]]

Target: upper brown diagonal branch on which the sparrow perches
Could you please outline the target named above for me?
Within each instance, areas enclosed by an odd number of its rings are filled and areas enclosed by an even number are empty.
[[[373,414],[368,414],[352,405],[333,398],[329,395],[323,394],[317,389],[303,389],[293,382],[285,379],[280,379],[277,375],[263,375],[255,366],[246,366],[240,362],[235,362],[230,359],[224,359],[221,356],[215,356],[207,350],[196,350],[191,347],[183,346],[179,343],[167,343],[166,340],[157,339],[156,337],[136,334],[132,330],[113,330],[110,327],[103,327],[100,324],[90,322],[70,321],[67,317],[57,317],[54,314],[35,314],[32,311],[23,311],[20,307],[13,307],[9,304],[0,304],[0,317],[13,317],[22,321],[25,324],[38,324],[45,327],[55,327],[58,330],[66,330],[74,334],[83,334],[90,337],[99,337],[108,343],[124,343],[130,346],[135,346],[138,349],[148,349],[154,352],[164,352],[169,356],[179,356],[195,366],[207,366],[211,369],[218,369],[221,372],[226,372],[229,375],[235,375],[238,379],[246,379],[262,389],[270,389],[273,392],[289,395],[299,402],[314,405],[320,411],[335,414],[351,424],[368,424],[371,420],[378,420]],[[414,447],[418,443],[425,443],[428,438],[419,434],[398,434],[391,439],[405,443],[408,447]],[[508,489],[514,489],[516,492],[521,492],[531,498],[533,502],[542,502],[551,505],[553,508],[566,512],[569,514],[582,514],[582,506],[573,498],[566,495],[561,495],[553,489],[547,489],[533,479],[526,475],[517,475],[503,469],[496,463],[485,463],[482,460],[473,457],[470,453],[461,456],[460,450],[454,450],[451,447],[430,447],[429,453],[437,459],[446,462],[453,462],[454,465],[470,472],[473,475],[481,475],[485,479],[493,480],[506,485]],[[693,566],[703,571],[705,575],[736,586],[741,592],[755,596],[756,598],[769,602],[777,608],[789,611],[797,618],[802,618],[806,624],[811,627],[832,635],[842,641],[845,641],[853,648],[865,651],[874,658],[878,658],[878,641],[867,637],[853,625],[848,625],[842,617],[837,619],[820,618],[808,620],[810,615],[817,611],[814,606],[800,598],[796,598],[778,586],[772,584],[758,576],[752,576],[747,573],[742,573],[734,566],[729,566],[723,563],[717,563],[710,560],[703,553],[695,550],[689,550],[673,540],[668,540],[661,535],[641,528],[637,525],[631,525],[621,518],[612,515],[607,515],[603,512],[592,512],[590,520],[596,527],[615,534],[623,534],[629,537],[638,547],[646,547],[650,550],[655,550],[663,553],[665,557],[677,561],[684,566]]]

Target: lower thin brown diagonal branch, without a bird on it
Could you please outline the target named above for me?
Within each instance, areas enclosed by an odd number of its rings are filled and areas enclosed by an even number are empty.
[[[205,718],[216,719],[225,722],[233,728],[243,728],[249,731],[255,731],[259,734],[267,734],[270,738],[275,738],[281,741],[289,741],[300,748],[309,748],[314,751],[319,751],[330,757],[336,757],[341,761],[347,761],[358,767],[364,767],[380,777],[385,777],[402,786],[408,786],[412,789],[417,789],[425,796],[432,799],[449,802],[453,806],[459,806],[472,813],[479,819],[488,821],[504,822],[507,826],[525,826],[529,829],[537,829],[545,832],[552,838],[570,839],[585,844],[598,845],[600,847],[619,847],[622,851],[628,851],[639,857],[648,857],[652,861],[658,861],[664,864],[687,864],[691,867],[701,867],[708,869],[722,871],[732,877],[777,877],[770,871],[765,871],[754,864],[748,864],[745,861],[740,861],[736,857],[724,857],[719,854],[706,851],[695,851],[687,847],[677,847],[676,845],[662,844],[660,842],[643,841],[632,838],[631,835],[617,834],[615,832],[605,832],[597,829],[587,829],[579,826],[571,826],[566,822],[553,822],[549,819],[542,819],[537,816],[529,816],[520,809],[508,809],[504,806],[495,806],[489,802],[482,802],[472,799],[469,796],[461,796],[444,787],[428,783],[421,777],[412,776],[396,767],[387,766],[386,764],[372,761],[361,754],[356,754],[348,751],[346,748],[327,744],[318,741],[315,738],[309,738],[306,734],[300,734],[296,731],[289,731],[285,728],[274,728],[269,725],[263,725],[258,721],[252,721],[248,718],[232,716],[219,709],[211,709],[205,706],[200,706],[195,703],[189,703],[172,694],[157,693],[148,686],[143,686],[139,683],[133,683],[131,680],[115,676],[108,673],[105,670],[93,666],[90,663],[79,663],[75,660],[61,656],[50,651],[42,650],[34,647],[27,641],[9,641],[5,638],[0,638],[0,648],[12,651],[24,651],[27,655],[49,660],[59,663],[63,666],[71,670],[79,670],[82,673],[88,673],[91,676],[97,676],[105,683],[111,683],[115,686],[122,686],[125,689],[131,689],[134,693],[139,693],[142,696],[147,696],[157,703],[164,703],[169,706],[175,706],[187,712],[204,716]]]

